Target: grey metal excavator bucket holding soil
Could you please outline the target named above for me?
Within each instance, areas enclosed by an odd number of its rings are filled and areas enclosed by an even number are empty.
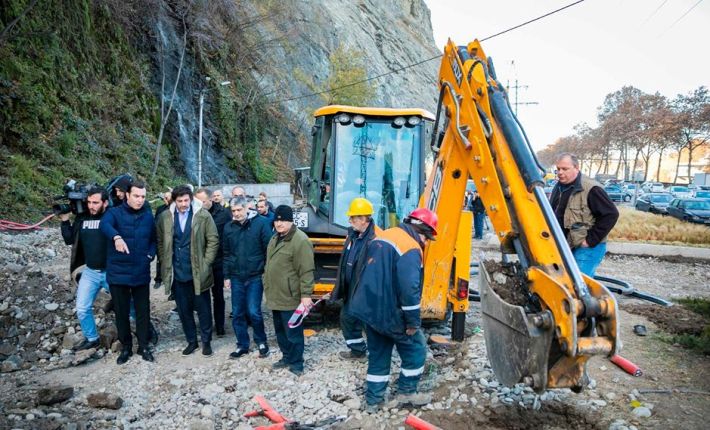
[[[486,265],[480,265],[479,284],[483,334],[488,361],[498,381],[512,386],[523,382],[535,391],[547,388],[550,347],[554,333],[538,328],[535,319],[551,319],[549,311],[528,316],[522,306],[504,301],[491,286]]]

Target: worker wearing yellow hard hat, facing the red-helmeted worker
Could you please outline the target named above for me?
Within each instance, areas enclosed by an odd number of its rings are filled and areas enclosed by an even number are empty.
[[[357,287],[358,279],[365,267],[367,255],[365,250],[375,236],[382,233],[382,230],[372,221],[374,212],[369,200],[357,197],[350,202],[350,207],[345,214],[348,216],[350,228],[340,256],[331,300],[343,300],[343,307],[340,309],[340,328],[349,350],[341,351],[340,357],[346,360],[367,360],[364,327],[362,322],[350,314],[350,302],[353,290]]]

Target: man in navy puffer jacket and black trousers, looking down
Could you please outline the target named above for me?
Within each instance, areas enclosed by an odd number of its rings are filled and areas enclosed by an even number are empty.
[[[131,299],[136,310],[138,353],[155,361],[149,343],[150,263],[155,258],[156,237],[153,213],[145,204],[146,187],[133,181],[126,200],[111,208],[101,219],[101,232],[108,238],[106,281],[111,290],[116,314],[118,340],[123,349],[116,360],[124,364],[133,355],[133,336],[129,321]]]

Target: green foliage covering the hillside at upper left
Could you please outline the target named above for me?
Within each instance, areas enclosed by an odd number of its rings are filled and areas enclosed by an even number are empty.
[[[2,3],[7,28],[31,2]],[[0,41],[0,214],[23,219],[36,218],[69,178],[147,175],[157,123],[147,59],[110,10],[89,0],[40,3]],[[152,187],[174,182],[167,166]]]

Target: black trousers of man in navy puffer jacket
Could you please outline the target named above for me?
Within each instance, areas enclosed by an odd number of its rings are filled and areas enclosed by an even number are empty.
[[[141,349],[148,347],[148,326],[150,324],[150,289],[148,285],[128,286],[109,285],[113,299],[113,311],[116,314],[118,340],[124,349],[133,348],[133,335],[129,319],[131,299],[136,308],[136,336]]]

